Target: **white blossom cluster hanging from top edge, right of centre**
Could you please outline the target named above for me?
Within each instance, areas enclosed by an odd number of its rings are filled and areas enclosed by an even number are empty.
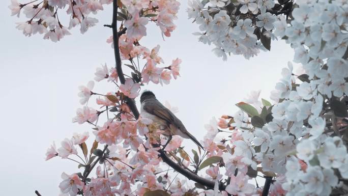
[[[199,25],[199,42],[214,44],[213,52],[227,60],[227,54],[242,54],[246,59],[270,50],[277,11],[284,11],[273,0],[189,1],[188,17]],[[260,41],[258,41],[260,40]]]

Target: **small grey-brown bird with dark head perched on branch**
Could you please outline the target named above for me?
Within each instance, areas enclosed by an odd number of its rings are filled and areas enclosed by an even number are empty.
[[[160,126],[161,130],[164,131],[164,135],[168,136],[167,144],[170,142],[172,135],[180,135],[191,139],[200,148],[204,149],[197,139],[186,130],[183,123],[156,99],[154,93],[151,91],[143,92],[140,96],[140,103],[140,116],[151,119]],[[164,145],[164,148],[167,144]]]

